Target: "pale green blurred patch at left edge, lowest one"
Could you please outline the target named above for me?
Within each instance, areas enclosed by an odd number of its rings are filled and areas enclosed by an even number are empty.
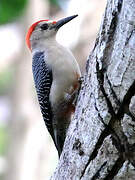
[[[0,126],[0,156],[6,153],[6,148],[8,144],[7,130]]]

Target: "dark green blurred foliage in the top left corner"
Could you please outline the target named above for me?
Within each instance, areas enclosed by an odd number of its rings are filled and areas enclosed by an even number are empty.
[[[0,24],[17,19],[22,15],[27,0],[0,0]]]

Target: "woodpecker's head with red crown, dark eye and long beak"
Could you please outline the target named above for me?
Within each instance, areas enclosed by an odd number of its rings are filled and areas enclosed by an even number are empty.
[[[26,44],[28,48],[31,50],[35,43],[45,41],[46,39],[55,36],[60,27],[77,16],[78,15],[73,15],[58,21],[40,20],[35,22],[30,26],[26,35]]]

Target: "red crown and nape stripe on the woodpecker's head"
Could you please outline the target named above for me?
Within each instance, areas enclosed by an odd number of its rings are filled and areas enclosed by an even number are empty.
[[[30,26],[30,28],[29,28],[29,30],[28,30],[28,32],[27,32],[27,34],[26,34],[26,44],[27,44],[27,46],[28,46],[28,48],[29,48],[30,50],[31,50],[30,36],[31,36],[32,32],[34,31],[35,27],[37,26],[37,24],[40,23],[40,22],[42,22],[42,21],[48,21],[48,20],[40,20],[40,21],[37,21],[37,22],[33,23],[33,24]]]

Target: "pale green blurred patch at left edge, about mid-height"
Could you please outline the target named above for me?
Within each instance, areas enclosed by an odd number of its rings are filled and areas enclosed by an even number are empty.
[[[14,79],[14,69],[10,67],[0,72],[0,95],[7,94],[11,90]]]

